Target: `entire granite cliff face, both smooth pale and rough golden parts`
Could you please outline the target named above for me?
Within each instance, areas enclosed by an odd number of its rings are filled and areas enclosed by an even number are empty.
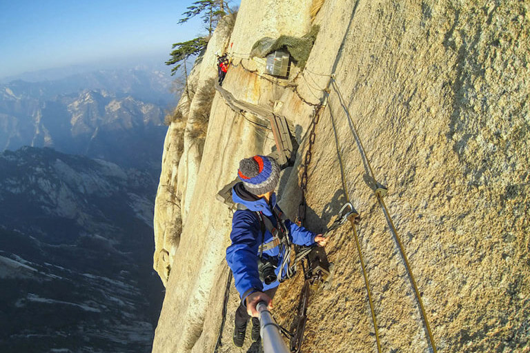
[[[358,232],[383,351],[430,347],[352,125],[375,179],[389,189],[384,202],[438,350],[529,352],[530,4],[326,0],[316,15],[312,5],[243,0],[233,30],[219,26],[195,66],[193,92],[215,77],[214,53],[227,48],[233,65],[223,88],[293,123],[300,149],[277,190],[293,219],[313,114],[308,103],[325,96],[334,74],[308,166],[306,226],[324,229],[345,201],[339,150],[349,197],[362,217]],[[320,31],[303,70],[293,68],[280,81],[257,75],[262,64],[248,59],[257,40],[300,37],[314,24]],[[268,154],[274,145],[270,130],[253,123],[253,114],[235,112],[218,92],[207,130],[197,132],[195,97],[181,99],[181,118],[170,125],[164,145],[155,269],[166,297],[156,353],[213,352],[231,220],[215,195],[233,180],[239,159]],[[335,263],[333,285],[311,296],[302,351],[375,352],[349,225],[333,234],[326,250]],[[301,285],[300,276],[284,283],[275,299],[275,316],[286,327]],[[231,345],[237,302],[232,286],[218,352],[239,351]]]

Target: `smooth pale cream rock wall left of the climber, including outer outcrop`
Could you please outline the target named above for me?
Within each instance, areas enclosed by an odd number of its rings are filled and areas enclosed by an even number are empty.
[[[268,15],[274,18],[274,24],[264,17],[264,8],[271,9]],[[307,14],[300,16],[304,8]],[[248,54],[253,43],[266,35],[304,32],[300,28],[309,26],[308,8],[309,5],[300,0],[279,4],[273,0],[244,1],[238,18],[247,22],[242,25],[237,20],[229,43],[235,43],[233,48],[237,46],[237,50]],[[287,16],[289,13],[291,17]],[[198,87],[197,91],[206,84],[208,78],[217,76],[215,52],[222,52],[228,47],[228,42],[224,42],[224,46],[219,45],[222,38],[226,39],[226,33],[219,30],[222,28],[217,28],[213,37],[215,39],[218,36],[219,39],[210,40],[202,63],[195,68],[200,72],[200,77],[193,79],[197,80],[196,84],[193,83],[194,87]],[[269,108],[272,108],[271,102],[282,95],[282,90],[277,90],[271,82],[257,79],[237,64],[228,72],[223,87],[233,92],[236,99]],[[195,104],[193,99],[190,117]],[[222,283],[226,279],[224,251],[231,225],[231,213],[215,199],[215,194],[234,179],[240,159],[263,153],[264,150],[270,152],[273,145],[270,128],[264,129],[252,123],[252,120],[251,114],[230,110],[220,95],[216,94],[204,146],[198,146],[197,141],[186,136],[194,123],[188,120],[184,133],[184,152],[175,158],[175,150],[170,152],[170,146],[180,137],[170,137],[168,134],[160,185],[176,184],[179,203],[168,203],[168,188],[159,186],[155,207],[155,269],[167,282],[153,352],[207,352],[213,349],[217,338],[215,327],[219,326],[219,321],[205,320],[205,316],[219,312],[221,307],[219,299],[224,292],[217,288],[218,282]],[[174,128],[172,124],[170,134]],[[181,219],[180,233],[175,232],[177,228],[173,226],[173,217]],[[170,276],[166,279],[164,276],[168,265]],[[224,284],[220,286],[224,288]],[[175,323],[181,327],[178,332],[175,332]]]

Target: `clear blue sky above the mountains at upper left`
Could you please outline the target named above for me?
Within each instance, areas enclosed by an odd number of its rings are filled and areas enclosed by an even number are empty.
[[[178,25],[194,0],[0,0],[0,78],[66,65],[159,55],[204,33]],[[239,1],[233,1],[233,3]]]

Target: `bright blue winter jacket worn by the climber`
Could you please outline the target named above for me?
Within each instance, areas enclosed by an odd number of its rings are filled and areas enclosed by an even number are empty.
[[[248,201],[242,199],[236,192],[232,192],[232,199],[235,203],[245,205],[248,210],[237,210],[232,219],[232,232],[230,239],[232,244],[226,248],[226,261],[232,269],[235,281],[235,288],[241,296],[242,302],[246,296],[253,292],[263,292],[279,285],[278,281],[266,285],[259,279],[257,271],[257,259],[259,256],[259,245],[268,243],[273,239],[273,234],[265,230],[264,241],[262,242],[262,225],[259,223],[259,218],[255,212],[262,212],[263,216],[268,217],[273,225],[277,227],[277,221],[271,209],[276,205],[276,194],[271,196],[271,205],[268,205],[265,199],[257,199],[256,201]],[[285,226],[288,230],[288,236],[291,242],[298,245],[312,245],[315,243],[315,233],[306,230],[304,227],[299,227],[295,223],[286,220]],[[273,256],[277,259],[277,263],[281,264],[284,253],[279,253],[279,247],[271,250],[265,250],[263,254]],[[286,265],[288,266],[288,264]],[[279,266],[275,273],[278,275]]]

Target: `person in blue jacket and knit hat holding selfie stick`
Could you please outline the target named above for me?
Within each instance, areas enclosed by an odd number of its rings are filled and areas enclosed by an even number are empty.
[[[241,304],[235,312],[233,342],[242,347],[251,316],[252,340],[259,340],[256,305],[265,301],[269,309],[272,308],[279,279],[285,278],[288,269],[291,243],[324,246],[327,239],[286,219],[279,210],[274,193],[279,181],[279,165],[273,158],[242,159],[237,174],[241,182],[234,186],[232,199],[238,204],[238,210],[232,219],[232,243],[226,248],[226,261],[241,296]]]

